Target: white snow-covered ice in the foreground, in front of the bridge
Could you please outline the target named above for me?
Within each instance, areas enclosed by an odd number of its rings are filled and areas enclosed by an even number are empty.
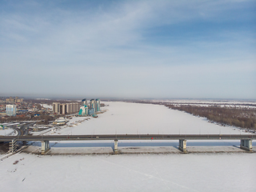
[[[255,154],[15,154],[0,171],[2,191],[256,191]]]

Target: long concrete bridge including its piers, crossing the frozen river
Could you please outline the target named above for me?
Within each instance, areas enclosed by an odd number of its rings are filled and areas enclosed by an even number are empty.
[[[178,149],[184,153],[186,140],[240,140],[240,148],[253,152],[252,141],[256,134],[86,134],[86,135],[24,135],[24,136],[0,136],[0,142],[10,142],[10,152],[17,150],[16,143],[39,141],[42,142],[42,154],[50,150],[50,141],[91,141],[91,140],[114,140],[114,154],[118,154],[118,140],[178,140]]]

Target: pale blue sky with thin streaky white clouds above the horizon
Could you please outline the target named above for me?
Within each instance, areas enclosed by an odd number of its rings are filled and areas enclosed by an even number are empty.
[[[0,1],[0,96],[256,99],[256,1]]]

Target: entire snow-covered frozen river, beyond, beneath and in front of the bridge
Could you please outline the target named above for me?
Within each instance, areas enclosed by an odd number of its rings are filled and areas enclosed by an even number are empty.
[[[234,127],[218,126],[165,106],[105,103],[109,105],[105,107],[107,111],[98,118],[73,118],[67,126],[47,134],[243,134]],[[123,141],[118,142],[118,147],[177,150],[174,147],[177,144],[178,141]],[[113,142],[51,142],[50,145],[52,150],[66,146],[70,150],[110,149]],[[188,148],[193,150],[238,146],[239,141],[226,144],[206,141],[204,145],[188,142]],[[0,179],[2,191],[256,191],[255,159],[255,153],[45,156],[22,153],[0,162]]]

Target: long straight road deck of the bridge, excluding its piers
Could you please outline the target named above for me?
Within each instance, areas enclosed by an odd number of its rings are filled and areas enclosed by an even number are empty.
[[[178,139],[256,139],[256,134],[98,134],[98,135],[23,135],[0,136],[0,142],[63,140],[178,140]]]

